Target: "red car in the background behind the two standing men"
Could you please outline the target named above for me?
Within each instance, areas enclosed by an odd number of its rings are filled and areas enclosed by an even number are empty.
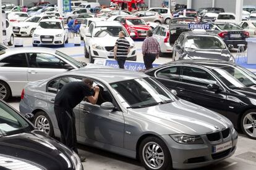
[[[124,25],[132,39],[144,39],[147,36],[147,30],[151,27],[139,17],[122,17],[119,22]]]

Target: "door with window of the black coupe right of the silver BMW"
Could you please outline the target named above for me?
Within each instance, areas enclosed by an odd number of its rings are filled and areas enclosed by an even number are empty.
[[[218,84],[220,90],[211,90],[209,84]],[[227,110],[226,91],[215,77],[203,68],[183,65],[177,85],[177,96],[224,115]]]

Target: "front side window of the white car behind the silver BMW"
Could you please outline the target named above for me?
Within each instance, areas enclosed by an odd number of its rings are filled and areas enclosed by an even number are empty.
[[[32,68],[64,68],[66,64],[58,57],[45,53],[28,54],[28,63]]]

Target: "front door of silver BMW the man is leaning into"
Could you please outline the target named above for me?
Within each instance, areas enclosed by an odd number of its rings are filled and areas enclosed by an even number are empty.
[[[94,85],[100,86],[98,102],[95,105],[87,100],[80,103],[80,136],[91,142],[124,147],[123,113],[103,83],[96,81]],[[103,110],[100,107],[103,102],[111,102],[117,109]]]

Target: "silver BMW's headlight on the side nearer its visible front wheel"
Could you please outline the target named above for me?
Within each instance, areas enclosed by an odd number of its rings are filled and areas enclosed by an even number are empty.
[[[187,134],[173,134],[170,136],[179,144],[203,144],[203,139],[200,136],[191,136]]]

